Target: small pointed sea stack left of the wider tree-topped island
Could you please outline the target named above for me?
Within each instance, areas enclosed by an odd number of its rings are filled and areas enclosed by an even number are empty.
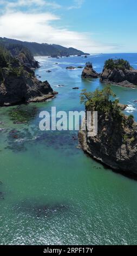
[[[82,78],[97,78],[100,75],[93,69],[92,63],[86,63],[84,70],[82,71]]]

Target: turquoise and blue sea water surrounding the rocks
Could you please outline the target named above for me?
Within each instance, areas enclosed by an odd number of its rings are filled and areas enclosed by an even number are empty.
[[[1,245],[131,245],[136,244],[137,183],[105,169],[77,148],[76,131],[42,132],[40,111],[82,110],[81,89],[103,88],[99,80],[81,80],[81,69],[92,61],[101,72],[108,57],[122,57],[137,65],[137,54],[101,54],[62,59],[37,57],[36,74],[58,92],[49,102],[22,105],[34,113],[27,124],[14,124],[0,109],[0,244]],[[58,64],[55,64],[58,62]],[[51,70],[51,73],[45,72]],[[64,87],[56,87],[63,84]],[[79,90],[73,90],[79,87]],[[136,89],[112,87],[126,114],[137,120]],[[74,140],[74,138],[76,138]],[[4,199],[3,199],[4,198]]]

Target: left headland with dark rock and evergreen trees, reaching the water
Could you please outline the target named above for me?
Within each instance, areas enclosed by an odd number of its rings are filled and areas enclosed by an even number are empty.
[[[27,56],[22,61],[21,55],[13,57],[6,48],[0,47],[0,106],[40,102],[56,94],[47,81],[41,82],[35,77],[32,63],[25,62]]]

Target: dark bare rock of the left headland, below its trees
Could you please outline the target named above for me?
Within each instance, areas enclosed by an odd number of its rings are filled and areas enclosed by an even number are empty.
[[[55,96],[47,81],[37,80],[34,75],[26,70],[18,75],[6,70],[5,74],[0,86],[0,106],[40,102]]]

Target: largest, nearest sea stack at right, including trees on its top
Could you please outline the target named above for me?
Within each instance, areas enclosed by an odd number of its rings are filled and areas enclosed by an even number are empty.
[[[98,132],[88,137],[86,126],[86,131],[79,132],[80,145],[95,160],[123,174],[136,176],[137,123],[132,115],[123,114],[122,105],[118,100],[109,100],[110,96],[115,95],[109,86],[94,93],[83,92],[81,101],[86,111],[98,112]]]

